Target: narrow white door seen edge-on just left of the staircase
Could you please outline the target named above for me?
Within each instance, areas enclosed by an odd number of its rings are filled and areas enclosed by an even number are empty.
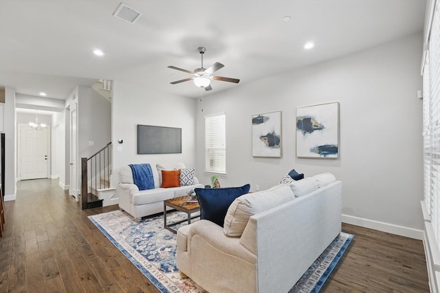
[[[79,194],[79,183],[77,174],[77,115],[76,115],[76,104],[71,104],[70,106],[70,189],[69,194],[74,196],[78,201]]]

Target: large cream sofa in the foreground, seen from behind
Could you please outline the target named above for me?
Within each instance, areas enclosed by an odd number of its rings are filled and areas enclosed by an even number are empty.
[[[223,228],[208,220],[179,228],[182,277],[210,293],[288,292],[341,231],[342,183],[328,179],[245,194],[230,205]],[[225,235],[231,231],[243,233]]]

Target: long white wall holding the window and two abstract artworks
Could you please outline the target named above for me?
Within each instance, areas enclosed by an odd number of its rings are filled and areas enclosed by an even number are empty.
[[[205,97],[196,121],[199,174],[203,115],[224,111],[228,174],[219,176],[222,186],[267,189],[291,169],[305,176],[331,172],[342,180],[344,220],[421,237],[421,51],[420,33]],[[328,102],[340,102],[340,159],[296,158],[296,108]],[[279,110],[281,159],[252,157],[252,115]],[[210,174],[199,177],[210,183]]]

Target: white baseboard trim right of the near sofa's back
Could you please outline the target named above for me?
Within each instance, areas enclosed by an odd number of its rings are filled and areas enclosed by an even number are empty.
[[[379,230],[386,233],[392,233],[396,235],[423,240],[423,230],[419,230],[415,228],[409,228],[395,224],[388,224],[385,222],[358,218],[353,215],[344,215],[344,214],[342,215],[342,222],[347,224],[353,224],[356,226],[361,226],[364,228]]]

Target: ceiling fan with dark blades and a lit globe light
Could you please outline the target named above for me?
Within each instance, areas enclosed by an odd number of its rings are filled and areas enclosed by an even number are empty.
[[[179,67],[175,66],[168,66],[170,69],[176,69],[179,71],[184,71],[186,73],[190,73],[192,78],[185,78],[184,80],[177,80],[175,82],[170,82],[170,84],[179,84],[181,82],[188,82],[188,80],[194,80],[194,84],[196,86],[201,87],[202,89],[205,89],[205,91],[212,90],[212,86],[210,85],[211,80],[221,80],[222,82],[234,82],[236,84],[239,83],[240,80],[237,80],[236,78],[223,78],[223,76],[216,76],[212,75],[215,71],[225,67],[225,65],[215,62],[213,65],[211,65],[208,68],[203,68],[203,54],[206,51],[205,47],[199,47],[198,48],[200,56],[201,56],[201,67],[194,69],[194,71],[189,71],[186,69],[181,69]]]

